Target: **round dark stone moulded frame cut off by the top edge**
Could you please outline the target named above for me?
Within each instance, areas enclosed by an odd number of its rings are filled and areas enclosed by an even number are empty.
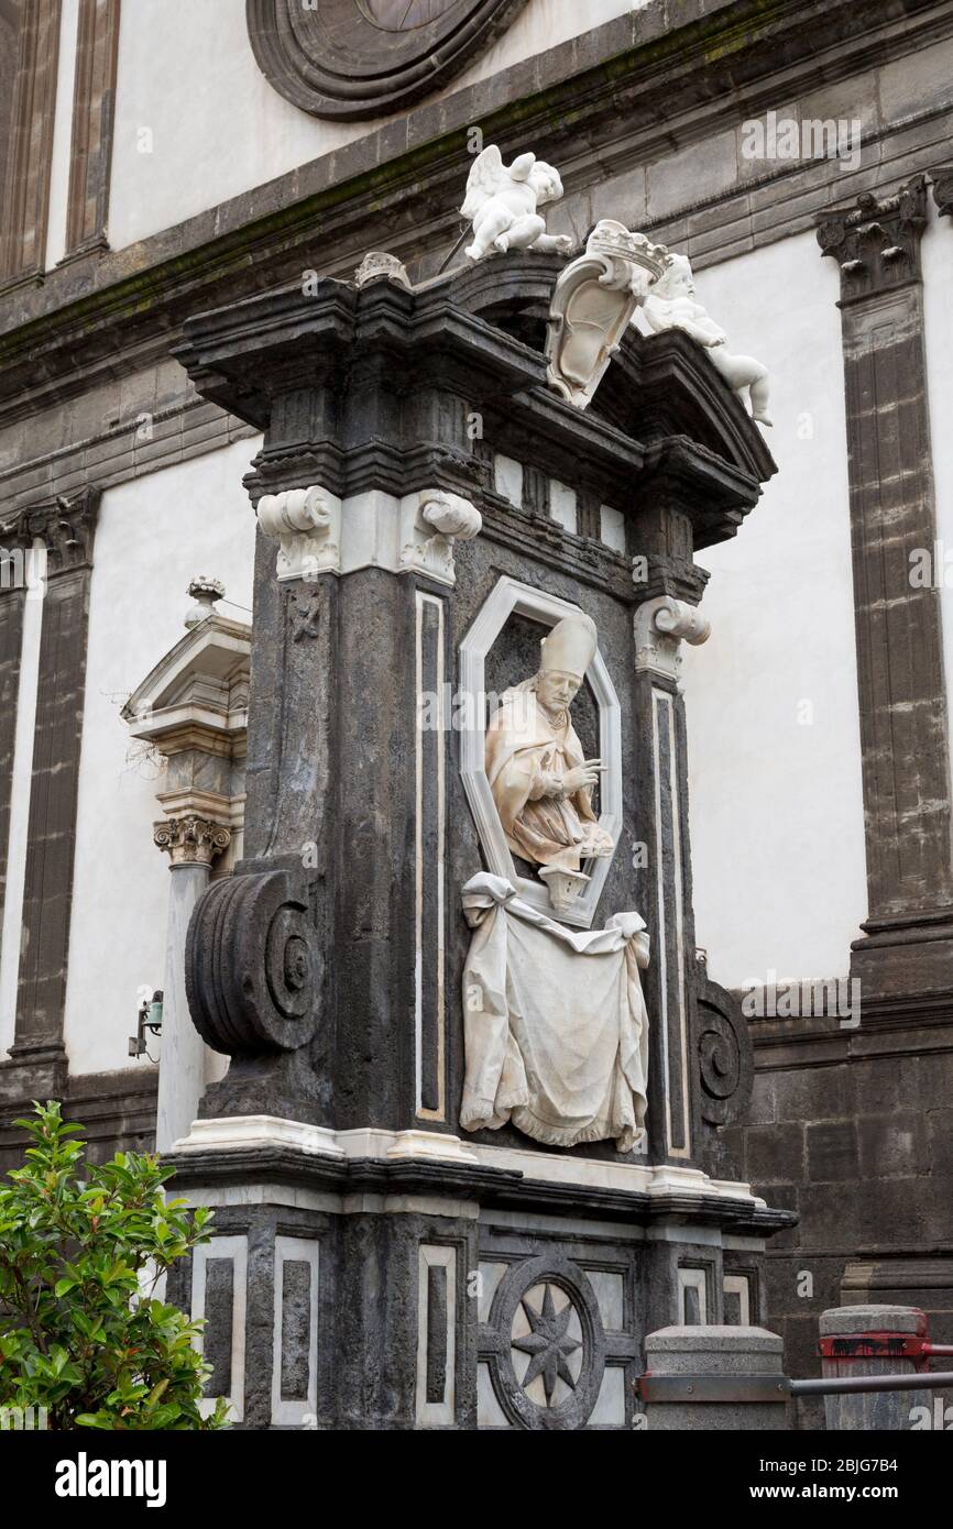
[[[434,0],[439,14],[405,31],[363,0],[246,0],[259,69],[312,116],[359,121],[433,95],[482,54],[526,0]]]

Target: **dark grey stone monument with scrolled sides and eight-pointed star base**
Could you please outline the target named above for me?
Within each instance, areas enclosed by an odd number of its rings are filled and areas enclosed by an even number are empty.
[[[208,1394],[242,1427],[632,1427],[646,1333],[760,1321],[765,1237],[791,1220],[731,1180],[716,1135],[751,1057],[694,959],[678,690],[679,641],[704,636],[693,553],[774,468],[676,332],[632,332],[589,411],[557,398],[558,269],[526,252],[416,291],[324,281],[202,315],[179,352],[265,431],[245,859],[187,957],[193,1018],[233,1061],[170,1154],[216,1209],[170,1294],[205,1316]],[[580,737],[621,757],[615,855],[578,922],[638,910],[652,940],[641,1151],[459,1125],[460,888],[493,868],[460,653],[502,691],[564,605],[607,676],[577,697]]]

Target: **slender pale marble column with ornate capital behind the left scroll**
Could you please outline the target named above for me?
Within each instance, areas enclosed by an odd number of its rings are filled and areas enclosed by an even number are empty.
[[[156,1116],[156,1151],[167,1151],[188,1136],[205,1087],[205,1044],[191,1023],[185,997],[185,934],[191,910],[208,885],[211,862],[228,849],[231,830],[210,818],[188,815],[158,823],[153,838],[170,861]]]

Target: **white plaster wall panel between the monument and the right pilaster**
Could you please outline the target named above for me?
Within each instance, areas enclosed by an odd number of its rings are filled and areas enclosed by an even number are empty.
[[[779,474],[701,553],[711,636],[685,648],[698,943],[716,982],[835,977],[866,916],[838,274],[814,234],[698,277],[772,376]]]

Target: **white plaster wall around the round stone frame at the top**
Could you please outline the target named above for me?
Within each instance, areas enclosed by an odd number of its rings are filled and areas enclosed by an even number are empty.
[[[442,95],[644,3],[529,0],[499,43]],[[272,90],[248,41],[245,0],[124,0],[110,245],[119,249],[171,228],[382,121],[320,121]],[[151,151],[142,151],[148,133]]]

